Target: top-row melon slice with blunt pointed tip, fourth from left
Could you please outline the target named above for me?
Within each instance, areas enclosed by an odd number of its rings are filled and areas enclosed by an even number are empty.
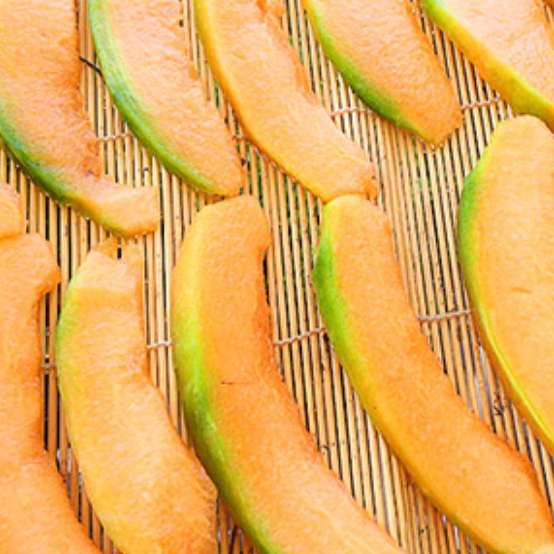
[[[461,125],[452,83],[404,0],[303,0],[323,50],[364,102],[438,144]]]

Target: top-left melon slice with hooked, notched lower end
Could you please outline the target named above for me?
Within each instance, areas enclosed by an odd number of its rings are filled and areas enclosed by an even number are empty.
[[[100,176],[100,145],[79,92],[73,0],[0,1],[0,52],[0,136],[28,175],[109,231],[156,229],[155,188]]]

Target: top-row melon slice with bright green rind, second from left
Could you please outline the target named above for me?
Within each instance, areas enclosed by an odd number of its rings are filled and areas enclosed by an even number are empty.
[[[206,193],[238,194],[235,143],[186,55],[175,0],[92,0],[102,75],[132,132],[168,170]]]

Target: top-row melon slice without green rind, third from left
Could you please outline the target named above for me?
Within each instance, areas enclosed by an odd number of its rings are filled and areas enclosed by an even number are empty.
[[[252,141],[314,195],[376,195],[366,155],[310,90],[279,26],[280,7],[278,0],[195,0],[215,78]]]

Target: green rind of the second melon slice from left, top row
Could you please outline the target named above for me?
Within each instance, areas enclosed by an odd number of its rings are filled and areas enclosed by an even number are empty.
[[[228,190],[206,179],[190,161],[172,147],[166,136],[158,131],[157,123],[148,111],[147,104],[136,91],[120,54],[111,24],[109,0],[89,1],[89,21],[102,76],[111,98],[132,133],[168,171],[188,184],[211,195],[228,194]]]

